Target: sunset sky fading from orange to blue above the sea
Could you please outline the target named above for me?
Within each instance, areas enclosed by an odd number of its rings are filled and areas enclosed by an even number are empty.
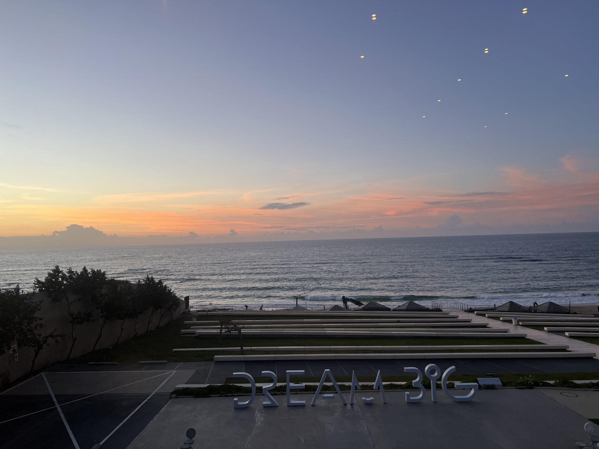
[[[598,16],[0,2],[0,236],[599,230]]]

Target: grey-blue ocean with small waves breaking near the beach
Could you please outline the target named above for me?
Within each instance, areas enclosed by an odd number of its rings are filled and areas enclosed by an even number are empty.
[[[31,290],[54,265],[153,275],[197,307],[297,297],[322,308],[342,295],[386,305],[599,302],[599,232],[0,251],[0,287]]]

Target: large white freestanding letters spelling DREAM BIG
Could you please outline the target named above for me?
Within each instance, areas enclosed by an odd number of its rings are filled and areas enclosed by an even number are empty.
[[[470,390],[470,392],[468,392],[465,395],[453,395],[453,393],[449,392],[449,389],[447,388],[447,379],[454,371],[455,371],[455,366],[450,366],[449,368],[447,368],[445,370],[445,372],[443,372],[443,375],[441,376],[441,370],[439,369],[439,367],[437,365],[434,365],[432,363],[429,365],[426,365],[426,368],[424,369],[424,374],[431,381],[431,401],[432,402],[437,402],[437,380],[438,380],[438,378],[441,378],[441,389],[443,390],[443,393],[445,393],[445,395],[448,398],[450,398],[452,401],[467,402],[467,401],[471,401],[474,398],[474,396],[476,396],[476,393],[479,391],[479,385],[476,383],[457,383],[457,384],[455,384],[455,387],[458,390]],[[423,380],[422,371],[420,371],[418,368],[410,367],[410,368],[404,368],[404,372],[410,372],[410,373],[416,374],[416,376],[417,376],[416,380],[412,381],[412,385],[416,389],[420,390],[420,393],[418,395],[415,395],[414,392],[406,392],[406,395],[405,395],[406,402],[414,403],[414,402],[424,401],[424,399],[426,397],[426,389],[425,389],[425,387],[422,386],[422,380]],[[292,399],[291,399],[291,390],[301,390],[301,389],[305,388],[304,384],[291,383],[291,377],[297,376],[297,375],[303,375],[303,374],[304,374],[303,369],[288,370],[286,372],[287,406],[305,406],[305,401],[292,401]],[[262,371],[262,375],[270,377],[273,380],[273,383],[271,383],[270,385],[262,387],[262,394],[264,394],[265,399],[267,399],[266,401],[262,402],[262,406],[278,407],[279,403],[270,394],[270,391],[273,390],[274,387],[277,386],[277,375],[274,374],[274,372],[272,372],[272,371]],[[252,375],[248,374],[247,372],[234,372],[233,377],[246,379],[247,381],[249,381],[250,386],[252,387],[252,396],[250,397],[250,399],[245,402],[239,402],[238,398],[234,398],[233,399],[233,407],[234,408],[249,407],[250,405],[252,405],[252,402],[254,402],[254,399],[256,398],[256,382],[254,381],[254,378],[252,377]],[[318,384],[318,388],[316,389],[316,393],[314,393],[314,396],[312,398],[311,405],[316,405],[316,402],[318,401],[318,398],[320,395],[320,391],[322,390],[322,387],[325,384],[326,378],[329,378],[329,380],[335,387],[336,393],[328,393],[326,395],[323,395],[323,398],[334,398],[335,395],[338,395],[338,398],[340,399],[341,403],[343,405],[347,405],[346,399],[343,396],[343,393],[341,393],[341,390],[339,389],[339,386],[337,385],[337,382],[335,381],[335,378],[333,377],[330,369],[325,369],[325,372],[323,372],[322,378],[320,378],[320,383]],[[355,372],[352,371],[352,389],[350,390],[350,395],[349,395],[349,403],[350,404],[353,404],[355,402],[356,389],[361,390],[361,387],[360,387],[360,383],[358,382],[358,379],[356,378]],[[374,381],[374,390],[379,390],[380,400],[383,404],[386,404],[387,400],[385,398],[385,388],[383,387],[383,379],[380,374],[380,370],[379,370],[379,372],[377,372],[376,380]],[[374,397],[362,398],[362,402],[364,402],[364,404],[373,404]]]

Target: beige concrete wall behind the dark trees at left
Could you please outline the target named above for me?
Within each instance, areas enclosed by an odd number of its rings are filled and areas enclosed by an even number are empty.
[[[72,298],[74,299],[75,297],[72,296]],[[42,307],[38,312],[38,316],[43,318],[42,322],[44,323],[44,327],[40,332],[43,332],[44,335],[46,335],[46,333],[56,329],[56,333],[64,333],[67,335],[64,340],[59,340],[58,343],[52,342],[50,346],[44,347],[35,361],[35,369],[40,369],[50,363],[66,359],[72,344],[72,339],[68,337],[68,334],[71,332],[71,324],[69,324],[66,301],[54,302],[47,297],[46,293],[40,292],[35,293],[35,300],[42,302]],[[92,350],[93,344],[95,343],[96,338],[98,338],[100,327],[102,326],[102,321],[98,320],[98,315],[93,308],[91,301],[76,302],[72,305],[72,311],[74,313],[77,311],[94,311],[96,320],[91,323],[75,326],[75,336],[77,337],[77,340],[75,341],[71,359],[80,356],[81,354],[89,353]],[[181,301],[179,310],[176,310],[173,313],[173,318],[179,317],[184,311],[185,302]],[[138,315],[135,320],[125,320],[125,324],[123,324],[123,334],[120,337],[119,342],[134,336],[136,330],[138,334],[146,332],[147,322],[151,312],[152,310],[150,309]],[[166,324],[170,320],[170,313],[165,312],[161,320],[160,312],[156,311],[152,315],[150,329],[154,329],[161,324]],[[107,321],[102,330],[102,338],[98,342],[96,349],[107,348],[114,345],[119,338],[121,324],[122,320]],[[17,354],[18,360],[12,363],[9,363],[11,354],[6,353],[3,356],[0,356],[0,386],[5,386],[7,383],[10,383],[17,378],[29,374],[31,362],[34,357],[34,350],[32,348],[19,347],[17,348]]]

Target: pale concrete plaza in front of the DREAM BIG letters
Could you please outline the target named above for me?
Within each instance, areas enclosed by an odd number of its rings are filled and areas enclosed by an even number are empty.
[[[349,402],[349,392],[344,395]],[[388,392],[386,404],[378,392],[367,395],[374,396],[373,405],[361,399],[343,405],[335,397],[310,406],[307,394],[293,396],[307,401],[299,407],[286,406],[283,395],[274,396],[279,407],[272,408],[262,407],[260,395],[244,409],[234,409],[233,398],[173,399],[129,449],[177,447],[189,427],[197,431],[194,447],[227,449],[564,449],[586,438],[586,418],[541,390],[482,390],[462,403],[443,392],[438,402],[428,392],[419,404],[407,404],[404,392]],[[599,417],[599,402],[592,407]]]

